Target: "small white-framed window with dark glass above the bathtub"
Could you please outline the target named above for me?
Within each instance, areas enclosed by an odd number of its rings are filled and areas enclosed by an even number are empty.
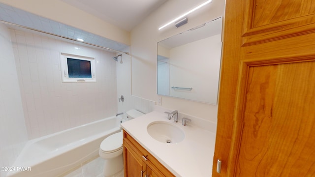
[[[63,82],[96,82],[95,59],[61,53]]]

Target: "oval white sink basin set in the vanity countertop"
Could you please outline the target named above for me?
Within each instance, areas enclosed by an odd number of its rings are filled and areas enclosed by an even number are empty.
[[[154,121],[147,127],[149,135],[162,143],[180,143],[185,138],[182,129],[166,121]]]

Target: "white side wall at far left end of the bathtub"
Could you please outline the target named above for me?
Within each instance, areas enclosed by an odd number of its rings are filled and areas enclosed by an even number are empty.
[[[11,167],[28,140],[11,37],[0,24],[0,167]],[[5,171],[0,171],[4,177]]]

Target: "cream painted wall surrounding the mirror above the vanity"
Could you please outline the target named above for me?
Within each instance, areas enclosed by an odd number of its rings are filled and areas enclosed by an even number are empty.
[[[168,0],[131,31],[132,94],[153,101],[157,95],[157,42],[177,33],[224,15],[224,0],[213,0],[188,16],[188,24],[175,28],[160,26],[190,10],[205,0]],[[162,96],[162,107],[217,121],[217,105]]]

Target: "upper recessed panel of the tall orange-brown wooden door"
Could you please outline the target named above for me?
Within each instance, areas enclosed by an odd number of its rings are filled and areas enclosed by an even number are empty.
[[[243,46],[315,31],[312,0],[248,0],[244,8]]]

